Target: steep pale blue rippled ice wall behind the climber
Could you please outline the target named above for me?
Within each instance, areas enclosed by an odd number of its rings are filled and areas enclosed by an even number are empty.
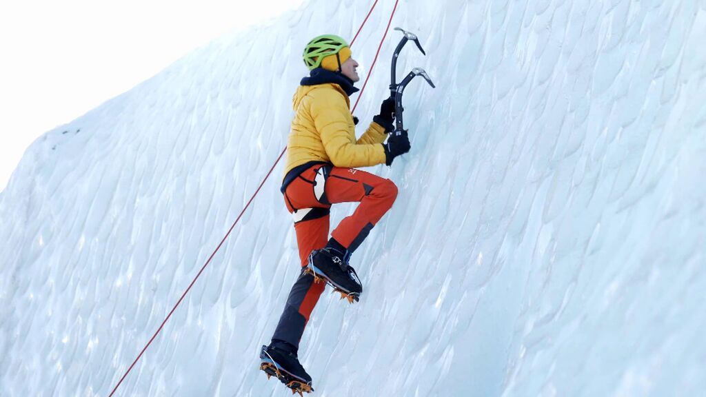
[[[354,44],[363,74],[393,1]],[[0,395],[107,395],[285,146],[299,54],[369,1],[221,40],[25,154],[0,194]],[[412,151],[324,295],[320,396],[689,396],[706,343],[706,2],[402,1]],[[385,97],[390,32],[356,115]],[[280,396],[258,370],[297,277],[282,165],[121,396]],[[340,220],[351,206],[334,211]]]

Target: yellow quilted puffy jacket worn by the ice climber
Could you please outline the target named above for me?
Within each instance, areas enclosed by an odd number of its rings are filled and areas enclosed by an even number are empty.
[[[385,163],[381,143],[385,128],[372,122],[365,134],[355,137],[350,100],[340,85],[299,85],[292,98],[294,119],[287,142],[285,175],[312,161],[335,167],[370,167]]]

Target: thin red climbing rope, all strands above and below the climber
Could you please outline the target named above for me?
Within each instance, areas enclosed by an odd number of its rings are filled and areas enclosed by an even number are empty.
[[[383,35],[383,38],[382,38],[382,40],[380,41],[380,45],[378,45],[378,52],[377,52],[377,54],[375,54],[375,59],[373,60],[373,65],[372,65],[371,68],[370,68],[370,73],[372,73],[373,67],[375,67],[375,63],[376,63],[376,61],[378,60],[378,54],[380,54],[380,49],[381,49],[381,47],[382,47],[382,45],[383,45],[383,40],[385,40],[385,36],[387,36],[387,34],[388,34],[388,30],[390,29],[390,23],[392,23],[393,16],[395,16],[395,10],[397,9],[397,2],[398,2],[398,1],[399,1],[399,0],[396,0],[396,1],[395,1],[395,8],[393,8],[393,12],[392,12],[392,14],[390,14],[390,22],[388,22],[388,28],[385,29],[385,35]],[[353,37],[353,40],[351,41],[351,45],[353,45],[353,42],[356,40],[356,38],[358,37],[358,34],[359,34],[360,31],[363,29],[363,26],[364,26],[365,23],[368,21],[368,18],[369,18],[369,16],[370,16],[370,14],[373,12],[373,8],[375,8],[376,4],[378,4],[378,0],[375,0],[375,3],[373,3],[373,6],[370,8],[370,11],[369,11],[369,13],[368,13],[368,16],[365,17],[365,20],[364,20],[363,23],[360,25],[360,28],[358,29],[358,32],[356,33],[355,37]],[[365,86],[366,86],[366,84],[368,83],[368,78],[370,78],[370,73],[368,73],[368,76],[367,76],[366,79],[365,79],[365,83],[363,84],[363,88],[361,88],[361,90],[360,90],[360,94],[358,95],[358,101],[360,100],[360,97],[361,97],[361,95],[363,94],[363,91],[365,90]],[[355,105],[354,105],[354,107],[353,107],[353,110],[355,110],[355,108],[358,106],[358,101],[356,101],[356,103],[355,103]],[[130,365],[130,367],[129,367],[128,370],[125,372],[125,374],[123,375],[123,377],[120,378],[120,381],[118,381],[118,384],[116,384],[115,387],[114,387],[114,389],[113,389],[113,391],[110,392],[109,397],[112,397],[112,396],[115,394],[115,392],[118,390],[119,386],[123,383],[123,381],[125,380],[125,378],[126,378],[126,377],[128,376],[128,374],[130,373],[130,371],[133,369],[133,367],[135,367],[135,365],[137,364],[137,362],[140,360],[140,357],[142,357],[142,355],[144,354],[145,350],[147,350],[147,348],[149,348],[150,345],[152,344],[152,341],[155,340],[155,338],[157,338],[157,335],[159,335],[159,333],[162,331],[162,328],[164,328],[164,324],[167,324],[167,321],[169,320],[169,318],[172,316],[172,314],[174,314],[174,311],[177,310],[177,307],[179,307],[179,304],[181,304],[181,301],[184,300],[184,297],[186,297],[186,294],[189,293],[189,290],[191,290],[191,287],[193,287],[194,283],[196,283],[196,280],[198,280],[198,278],[201,276],[201,273],[203,273],[203,271],[205,270],[206,266],[208,266],[208,263],[210,263],[211,259],[213,259],[213,257],[215,256],[215,254],[216,254],[216,253],[218,252],[218,250],[222,247],[223,243],[225,243],[225,240],[228,238],[228,236],[230,235],[230,233],[233,231],[235,225],[238,224],[238,222],[240,221],[240,218],[242,218],[242,216],[243,216],[243,214],[245,213],[245,211],[249,208],[250,204],[253,202],[253,200],[255,199],[255,197],[258,195],[258,193],[260,192],[260,189],[262,189],[262,187],[263,187],[263,185],[265,184],[265,182],[267,182],[267,180],[270,178],[270,175],[271,175],[272,172],[275,170],[275,167],[277,167],[277,164],[280,162],[280,160],[282,160],[282,156],[285,155],[285,152],[286,152],[286,151],[287,151],[287,148],[285,147],[285,149],[282,150],[282,153],[280,154],[280,157],[277,158],[277,160],[275,161],[275,164],[273,164],[272,168],[270,168],[270,172],[268,172],[268,174],[265,176],[265,179],[263,179],[263,181],[261,182],[260,186],[258,186],[258,189],[255,191],[255,193],[253,194],[253,196],[250,198],[250,201],[248,201],[248,203],[245,205],[245,207],[243,208],[243,211],[241,211],[240,215],[238,215],[238,218],[235,220],[235,222],[233,223],[233,225],[230,227],[230,229],[229,229],[228,232],[226,233],[225,237],[223,237],[223,239],[221,240],[220,244],[218,244],[218,247],[216,247],[216,249],[213,251],[213,254],[211,254],[211,256],[208,258],[208,261],[206,261],[206,263],[204,263],[203,267],[201,267],[201,270],[198,271],[198,274],[196,274],[196,277],[193,278],[193,281],[191,281],[191,284],[189,284],[189,288],[186,288],[186,291],[184,291],[184,294],[181,295],[181,297],[179,298],[179,301],[177,302],[177,304],[175,304],[174,307],[172,308],[172,311],[169,312],[169,314],[167,314],[167,318],[165,318],[164,321],[162,321],[162,324],[160,325],[160,328],[157,328],[157,332],[155,332],[155,334],[152,335],[152,338],[150,338],[150,341],[147,343],[147,345],[145,345],[145,347],[142,349],[142,351],[140,351],[140,354],[137,356],[137,358],[135,359],[135,361],[133,361],[132,365]]]

